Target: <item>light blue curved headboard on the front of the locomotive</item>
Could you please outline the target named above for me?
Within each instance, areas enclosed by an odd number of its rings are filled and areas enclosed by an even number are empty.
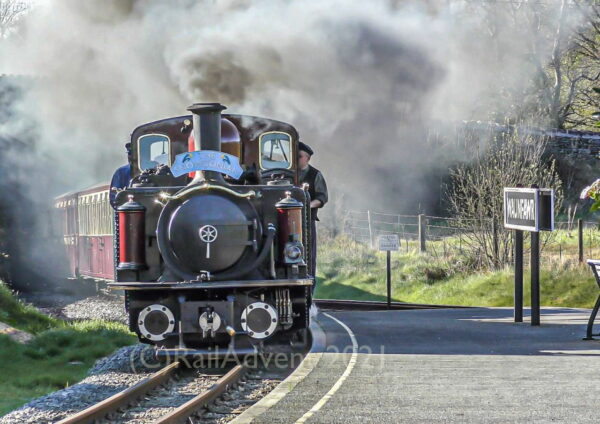
[[[215,171],[238,179],[244,170],[237,156],[214,150],[181,153],[175,156],[171,173],[175,177],[194,171]]]

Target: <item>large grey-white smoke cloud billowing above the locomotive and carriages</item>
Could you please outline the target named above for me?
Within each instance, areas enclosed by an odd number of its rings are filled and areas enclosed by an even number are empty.
[[[294,124],[347,207],[431,212],[460,155],[431,122],[509,111],[533,72],[524,46],[551,47],[508,7],[62,0],[0,53],[7,71],[39,77],[21,107],[55,192],[108,180],[136,125],[220,101]]]

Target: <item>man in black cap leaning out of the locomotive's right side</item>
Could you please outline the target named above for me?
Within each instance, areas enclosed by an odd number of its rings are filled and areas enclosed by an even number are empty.
[[[317,216],[318,209],[327,203],[327,184],[321,171],[309,165],[313,150],[306,144],[300,142],[298,146],[298,176],[300,184],[308,183],[308,192],[310,193],[310,216],[311,216],[311,269],[313,274],[317,275],[317,225],[319,220]],[[316,281],[316,280],[315,280]],[[313,286],[313,292],[315,287]]]

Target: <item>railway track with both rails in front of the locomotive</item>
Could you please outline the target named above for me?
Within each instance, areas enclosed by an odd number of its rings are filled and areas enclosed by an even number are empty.
[[[199,409],[208,406],[236,385],[247,369],[236,365],[226,374],[214,379],[204,379],[198,384],[194,372],[185,370],[180,362],[174,362],[155,372],[139,383],[105,399],[91,407],[71,415],[58,424],[83,424],[92,422],[154,422],[174,424],[186,422]],[[216,380],[216,381],[214,381]],[[200,393],[190,394],[194,388],[205,385]],[[169,392],[179,391],[189,400],[169,405]],[[143,399],[141,399],[143,398]],[[185,397],[184,397],[185,398]],[[141,399],[141,400],[140,400]],[[178,397],[179,400],[182,396]],[[145,409],[153,409],[152,413]],[[164,413],[164,411],[167,411]]]

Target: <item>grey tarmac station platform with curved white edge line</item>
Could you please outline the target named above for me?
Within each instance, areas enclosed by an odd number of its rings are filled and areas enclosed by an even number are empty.
[[[300,367],[235,423],[600,422],[589,310],[321,313]]]

